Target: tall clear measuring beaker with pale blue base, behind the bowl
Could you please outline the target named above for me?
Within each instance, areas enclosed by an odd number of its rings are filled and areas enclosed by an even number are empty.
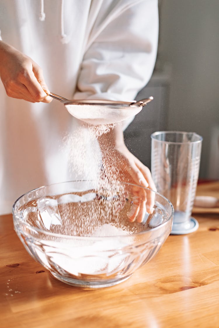
[[[157,191],[174,207],[172,235],[198,229],[191,217],[199,176],[202,137],[193,132],[151,134],[151,173]]]

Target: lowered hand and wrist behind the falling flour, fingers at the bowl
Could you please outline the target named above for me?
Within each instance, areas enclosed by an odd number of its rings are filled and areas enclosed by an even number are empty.
[[[105,178],[133,184],[129,186],[129,194],[132,196],[124,195],[128,200],[131,199],[128,217],[130,221],[142,222],[146,212],[153,213],[155,195],[149,189],[156,191],[156,187],[150,170],[129,152],[118,130],[102,135],[99,144]],[[149,189],[139,188],[136,185]]]

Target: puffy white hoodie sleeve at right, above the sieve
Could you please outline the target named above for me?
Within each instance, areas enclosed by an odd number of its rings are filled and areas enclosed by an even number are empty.
[[[103,1],[87,40],[75,99],[131,101],[149,81],[157,55],[157,0]]]

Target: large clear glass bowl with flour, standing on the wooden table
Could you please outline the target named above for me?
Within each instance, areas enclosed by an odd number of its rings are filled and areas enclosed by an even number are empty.
[[[164,196],[137,185],[70,181],[18,198],[13,222],[26,250],[54,277],[100,288],[126,280],[155,256],[171,232],[173,212]]]

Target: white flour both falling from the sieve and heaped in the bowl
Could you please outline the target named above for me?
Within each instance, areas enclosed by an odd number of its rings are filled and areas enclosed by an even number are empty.
[[[110,140],[106,141],[105,149],[101,147],[101,151],[98,143],[99,137],[109,133],[113,128],[113,124],[80,124],[73,133],[63,139],[63,151],[68,151],[69,169],[74,179],[95,180],[97,188],[95,193],[85,191],[59,195],[58,199],[52,200],[58,205],[52,204],[51,199],[48,199],[51,203],[50,209],[61,218],[61,224],[53,224],[52,218],[48,227],[50,231],[65,236],[92,238],[44,240],[45,253],[37,249],[36,253],[45,264],[46,254],[47,258],[50,258],[50,263],[53,262],[53,266],[58,266],[75,276],[112,275],[126,263],[127,255],[120,251],[117,254],[117,250],[133,243],[134,231],[128,230],[125,221],[121,224],[120,209],[125,207],[127,199],[124,195],[124,185],[120,183],[118,158],[108,153]],[[42,207],[41,216],[44,212]],[[58,249],[59,252],[54,252],[54,249]]]

